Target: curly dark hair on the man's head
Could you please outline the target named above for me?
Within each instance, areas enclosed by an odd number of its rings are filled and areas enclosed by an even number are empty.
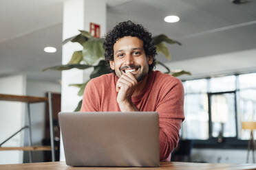
[[[108,65],[109,61],[114,60],[114,44],[124,36],[134,36],[143,41],[146,56],[151,56],[153,59],[152,64],[149,65],[149,71],[153,70],[156,65],[156,47],[153,44],[151,33],[149,33],[142,25],[131,21],[118,23],[114,29],[106,34],[103,47],[105,49],[105,60],[108,61]]]

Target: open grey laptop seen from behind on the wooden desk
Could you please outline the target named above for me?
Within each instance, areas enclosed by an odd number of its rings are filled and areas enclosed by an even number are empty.
[[[157,112],[60,112],[66,164],[159,167]]]

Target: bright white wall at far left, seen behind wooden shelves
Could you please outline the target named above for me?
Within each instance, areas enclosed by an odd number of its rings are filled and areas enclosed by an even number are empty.
[[[0,77],[0,93],[25,95],[25,75]],[[0,143],[24,126],[25,104],[17,101],[0,101]],[[2,147],[23,146],[23,132]],[[0,151],[0,164],[23,162],[23,151]]]

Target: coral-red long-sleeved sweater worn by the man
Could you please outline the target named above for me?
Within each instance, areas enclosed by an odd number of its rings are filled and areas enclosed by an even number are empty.
[[[89,81],[83,95],[81,111],[120,111],[116,97],[114,73]],[[160,71],[151,71],[147,85],[140,95],[131,97],[140,111],[156,111],[160,125],[160,160],[166,160],[177,146],[180,125],[184,120],[184,90],[182,82]]]

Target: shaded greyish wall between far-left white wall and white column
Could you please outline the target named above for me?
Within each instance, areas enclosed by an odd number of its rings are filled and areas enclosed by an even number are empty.
[[[26,95],[45,97],[48,91],[53,93],[61,93],[61,84],[53,82],[40,82],[36,80],[27,81]],[[30,104],[30,114],[32,121],[32,144],[42,145],[45,127],[45,103]],[[28,116],[26,114],[25,123],[28,124]],[[25,132],[24,144],[28,145],[28,131]],[[43,161],[43,151],[33,151],[33,162]],[[28,151],[24,152],[24,162],[28,162]]]

